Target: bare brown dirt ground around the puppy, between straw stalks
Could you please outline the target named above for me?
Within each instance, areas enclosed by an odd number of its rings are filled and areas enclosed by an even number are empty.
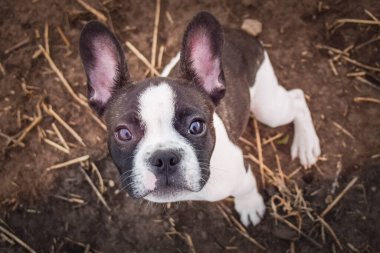
[[[103,6],[97,1],[88,2],[108,13],[122,42],[132,42],[150,57],[154,1],[110,0],[102,1]],[[376,85],[380,77],[378,72],[365,76],[375,86],[348,78],[346,73],[358,69],[346,63],[336,64],[339,75],[335,76],[328,64],[327,51],[315,47],[320,43],[344,49],[379,36],[380,26],[377,25],[346,24],[334,33],[326,28],[326,24],[340,18],[369,19],[365,9],[380,18],[378,0],[162,1],[158,43],[166,47],[164,63],[179,49],[184,27],[197,11],[211,11],[223,24],[232,27],[239,27],[244,18],[255,18],[263,23],[259,38],[270,44],[268,52],[279,80],[287,88],[302,88],[310,98],[308,102],[324,159],[318,162],[318,168],[302,169],[294,179],[313,209],[322,212],[354,176],[359,177],[356,185],[326,216],[343,245],[342,250],[327,232],[323,243],[315,224],[309,222],[302,229],[323,244],[322,248],[276,222],[269,208],[269,198],[276,189],[263,188],[268,211],[264,220],[250,227],[248,232],[265,245],[266,252],[292,252],[291,245],[294,252],[334,252],[334,249],[336,252],[380,252],[380,106],[353,101],[355,97],[379,99],[380,90]],[[173,24],[165,13],[170,13]],[[24,140],[25,148],[6,147],[6,140],[0,139],[0,215],[7,224],[1,222],[0,225],[13,231],[37,252],[87,252],[86,244],[91,246],[90,252],[261,252],[224,219],[215,203],[177,203],[169,208],[130,199],[117,190],[119,178],[108,157],[105,132],[62,88],[44,57],[32,59],[37,45],[43,44],[47,23],[53,60],[74,90],[86,94],[77,43],[83,24],[93,18],[74,0],[0,1],[0,62],[6,71],[0,72],[1,133],[14,136],[27,127],[30,116],[35,113],[35,105],[42,98],[86,143],[86,147],[78,145],[59,124],[65,139],[74,144],[70,154],[42,142],[36,128]],[[66,47],[58,35],[58,26],[70,41],[70,47]],[[25,38],[30,38],[27,44],[5,53]],[[133,78],[143,78],[146,67],[126,47],[125,50]],[[379,50],[378,40],[352,51],[350,57],[379,68]],[[27,94],[22,89],[22,82],[35,89]],[[18,114],[21,115],[19,122]],[[51,130],[54,120],[46,113],[43,115],[39,127]],[[334,122],[353,137],[338,129]],[[261,125],[260,131],[262,137],[282,132],[290,136],[290,140],[292,138],[290,126],[269,129]],[[246,138],[254,142],[253,132],[252,126],[248,126]],[[49,131],[47,135],[55,138]],[[298,161],[289,158],[290,142],[276,142],[286,174],[299,167]],[[78,165],[46,172],[53,164],[85,154],[90,154],[106,182],[104,197],[111,212],[98,201],[78,171]],[[265,163],[275,168],[270,145],[264,147],[264,154]],[[336,176],[340,165],[342,172]],[[257,165],[253,165],[253,170],[259,175]],[[92,178],[96,181],[94,175]],[[338,186],[332,192],[335,178]],[[116,186],[112,182],[116,182]],[[85,204],[68,203],[54,197],[69,194],[80,195]],[[228,200],[224,204],[232,209]],[[168,235],[173,229],[180,234]],[[192,239],[194,248],[184,239],[186,234]],[[83,243],[82,246],[78,242]],[[27,251],[17,243],[12,245],[0,233],[0,252]]]

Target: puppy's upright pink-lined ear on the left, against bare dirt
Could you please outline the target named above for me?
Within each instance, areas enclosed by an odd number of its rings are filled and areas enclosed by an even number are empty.
[[[79,52],[87,75],[89,104],[102,115],[112,92],[129,79],[123,49],[105,25],[91,21],[82,30]]]

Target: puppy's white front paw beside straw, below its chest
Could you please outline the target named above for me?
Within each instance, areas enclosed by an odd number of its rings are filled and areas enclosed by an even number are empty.
[[[251,222],[257,225],[265,213],[264,200],[258,192],[235,197],[235,210],[244,226],[248,227]]]

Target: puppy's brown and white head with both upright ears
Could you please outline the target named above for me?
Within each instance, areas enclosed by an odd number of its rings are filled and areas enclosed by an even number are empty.
[[[222,47],[219,22],[199,13],[183,37],[181,76],[132,82],[116,37],[98,22],[83,29],[89,104],[104,115],[108,147],[131,196],[176,201],[206,184],[213,114],[225,93]]]

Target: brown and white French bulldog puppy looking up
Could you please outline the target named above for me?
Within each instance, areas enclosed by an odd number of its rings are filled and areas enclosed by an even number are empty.
[[[134,198],[233,196],[241,222],[259,223],[265,204],[238,146],[250,112],[270,127],[293,122],[291,155],[304,166],[320,155],[302,90],[279,85],[260,42],[210,13],[188,24],[162,77],[132,81],[122,47],[99,22],[84,27],[79,46],[89,104],[104,116],[110,154]]]

